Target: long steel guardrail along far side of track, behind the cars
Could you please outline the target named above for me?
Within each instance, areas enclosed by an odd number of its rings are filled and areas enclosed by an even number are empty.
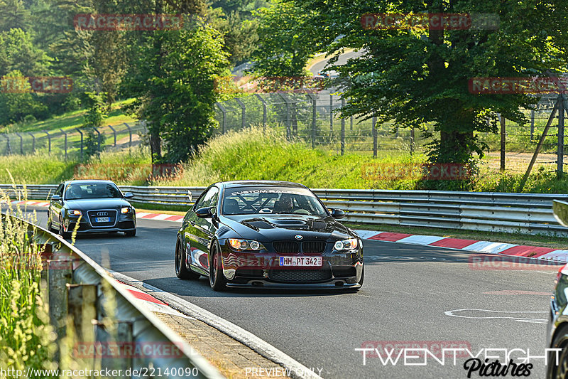
[[[28,198],[45,200],[56,186],[27,186]],[[132,192],[133,201],[189,206],[204,187],[121,186]],[[0,185],[12,198],[23,186]],[[315,189],[330,208],[342,208],[351,223],[429,226],[435,228],[486,230],[568,236],[552,214],[552,201],[568,201],[568,195],[550,193],[497,193],[452,191],[388,191]]]

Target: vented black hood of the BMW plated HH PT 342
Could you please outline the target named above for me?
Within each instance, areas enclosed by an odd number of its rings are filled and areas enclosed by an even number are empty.
[[[230,215],[222,223],[241,237],[260,242],[294,239],[302,235],[307,240],[343,240],[355,237],[351,231],[331,216],[309,215]]]

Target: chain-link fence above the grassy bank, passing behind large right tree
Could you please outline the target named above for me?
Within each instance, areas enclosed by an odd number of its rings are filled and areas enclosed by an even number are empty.
[[[505,120],[506,171],[523,173],[537,148],[542,132],[555,107],[557,95],[545,95],[532,110],[523,110],[530,120],[520,126]],[[240,130],[251,125],[271,128],[285,133],[290,140],[301,140],[312,147],[320,146],[337,154],[356,153],[372,156],[381,154],[423,154],[426,139],[420,130],[395,129],[392,124],[378,124],[376,119],[339,117],[339,108],[345,100],[329,91],[308,94],[263,93],[218,102],[216,107],[219,129],[217,133]],[[562,112],[559,112],[562,113]],[[564,113],[562,113],[564,114]],[[563,124],[563,118],[561,119]],[[547,171],[557,169],[559,151],[558,113],[547,137],[542,143],[535,165]],[[375,126],[373,128],[373,126]],[[561,146],[564,146],[563,127]],[[479,139],[488,146],[481,166],[490,171],[501,169],[501,135],[479,133]],[[439,134],[434,134],[438,137]],[[561,161],[566,159],[560,158]]]

